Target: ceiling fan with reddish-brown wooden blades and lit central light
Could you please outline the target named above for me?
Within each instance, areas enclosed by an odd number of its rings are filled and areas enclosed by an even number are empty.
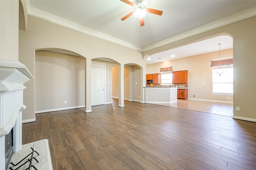
[[[149,0],[137,0],[137,4],[134,4],[133,2],[130,2],[128,0],[120,0],[126,4],[129,4],[131,6],[135,7],[135,10],[130,12],[129,14],[127,14],[126,16],[124,16],[123,18],[121,18],[122,21],[124,21],[126,18],[130,17],[132,14],[134,14],[134,16],[136,16],[137,18],[140,19],[140,26],[144,26],[144,16],[146,14],[146,12],[152,13],[152,14],[156,14],[161,16],[162,15],[162,11],[160,10],[154,10],[151,8],[146,8],[146,4],[149,2]]]

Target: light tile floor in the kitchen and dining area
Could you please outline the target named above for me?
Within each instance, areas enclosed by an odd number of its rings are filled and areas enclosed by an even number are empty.
[[[182,100],[172,104],[158,104],[161,106],[176,107],[180,109],[188,109],[195,111],[202,111],[224,116],[233,116],[233,104],[219,103],[219,102],[206,102],[199,100]]]

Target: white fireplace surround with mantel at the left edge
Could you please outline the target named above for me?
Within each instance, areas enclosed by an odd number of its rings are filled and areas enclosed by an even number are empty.
[[[5,169],[5,135],[14,127],[14,153],[22,149],[23,84],[33,76],[19,61],[0,59],[0,169]]]

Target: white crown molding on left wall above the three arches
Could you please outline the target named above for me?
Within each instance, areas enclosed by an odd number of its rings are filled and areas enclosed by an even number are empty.
[[[100,31],[96,31],[94,29],[90,29],[90,28],[85,27],[83,25],[80,25],[78,23],[74,23],[72,21],[65,20],[65,19],[60,18],[58,16],[52,15],[52,14],[50,14],[48,12],[44,12],[44,11],[38,10],[36,8],[31,7],[29,5],[29,3],[27,3],[27,4],[28,4],[28,15],[30,15],[30,16],[41,18],[42,20],[50,21],[52,23],[56,23],[56,24],[62,25],[64,27],[68,27],[70,29],[74,29],[76,31],[80,31],[82,33],[86,33],[88,35],[92,35],[94,37],[98,37],[100,39],[104,39],[106,41],[110,41],[112,43],[116,43],[116,44],[119,44],[119,45],[122,45],[122,46],[125,46],[125,47],[129,47],[131,49],[142,51],[142,48],[137,46],[137,45],[134,45],[132,43],[128,43],[128,42],[123,41],[121,39],[118,39],[118,38],[112,37],[110,35],[104,34],[104,33],[100,32]]]

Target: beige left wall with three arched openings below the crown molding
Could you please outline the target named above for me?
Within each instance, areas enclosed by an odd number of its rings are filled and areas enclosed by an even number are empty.
[[[86,58],[88,68],[85,75],[87,99],[85,100],[85,109],[88,111],[91,109],[90,66],[92,59],[103,57],[112,59],[119,64],[136,63],[142,67],[146,66],[142,59],[142,53],[139,51],[28,16],[27,31],[19,31],[19,56],[20,62],[27,66],[33,76],[35,75],[35,50],[49,48],[65,49]],[[30,80],[24,85],[27,87],[24,90],[24,104],[27,107],[23,112],[22,119],[34,119],[35,81]]]

